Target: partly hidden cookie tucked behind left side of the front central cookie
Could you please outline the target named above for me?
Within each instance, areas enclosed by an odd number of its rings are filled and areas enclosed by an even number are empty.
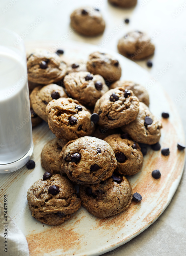
[[[67,144],[68,140],[55,138],[49,141],[43,147],[41,152],[41,165],[49,173],[55,174],[64,173],[61,170],[61,162],[59,161],[59,155],[62,148]]]

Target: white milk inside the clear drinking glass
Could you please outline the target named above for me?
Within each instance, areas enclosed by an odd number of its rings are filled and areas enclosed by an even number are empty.
[[[14,51],[0,46],[0,165],[21,159],[31,146],[26,65]]]

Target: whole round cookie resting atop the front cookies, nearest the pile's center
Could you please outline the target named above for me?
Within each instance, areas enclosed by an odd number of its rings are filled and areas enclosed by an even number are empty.
[[[110,177],[117,166],[111,146],[89,136],[69,141],[59,158],[61,169],[78,184],[100,183]]]

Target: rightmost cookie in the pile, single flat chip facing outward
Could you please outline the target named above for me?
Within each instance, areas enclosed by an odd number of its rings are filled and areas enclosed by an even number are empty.
[[[122,131],[128,133],[133,140],[149,145],[159,141],[161,128],[161,121],[150,112],[143,102],[139,102],[139,113],[136,119],[121,127]]]

